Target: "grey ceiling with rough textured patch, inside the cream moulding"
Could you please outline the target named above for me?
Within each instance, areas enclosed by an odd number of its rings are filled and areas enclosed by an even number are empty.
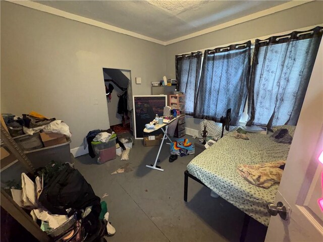
[[[169,41],[289,1],[34,1]]]

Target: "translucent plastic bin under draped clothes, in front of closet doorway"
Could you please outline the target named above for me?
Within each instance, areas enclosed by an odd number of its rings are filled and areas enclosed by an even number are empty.
[[[98,164],[102,164],[106,161],[116,159],[117,157],[116,139],[117,138],[113,138],[109,140],[109,142],[107,143],[95,142],[95,141],[91,142],[94,153],[96,154],[96,156],[98,156],[97,158]]]

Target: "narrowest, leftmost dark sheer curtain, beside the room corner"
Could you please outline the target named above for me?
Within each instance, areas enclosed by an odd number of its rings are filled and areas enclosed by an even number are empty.
[[[201,73],[202,52],[176,55],[176,79],[185,96],[185,113],[193,115],[198,80]]]

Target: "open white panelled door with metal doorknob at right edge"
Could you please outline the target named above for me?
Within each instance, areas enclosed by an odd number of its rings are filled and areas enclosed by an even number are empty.
[[[323,241],[323,43],[321,41],[265,241]],[[323,158],[322,158],[323,160]],[[323,162],[323,161],[322,161]],[[321,205],[323,207],[323,204]]]

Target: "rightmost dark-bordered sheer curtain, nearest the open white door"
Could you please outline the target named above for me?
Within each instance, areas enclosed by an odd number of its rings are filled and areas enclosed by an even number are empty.
[[[247,125],[296,125],[322,28],[256,39]]]

